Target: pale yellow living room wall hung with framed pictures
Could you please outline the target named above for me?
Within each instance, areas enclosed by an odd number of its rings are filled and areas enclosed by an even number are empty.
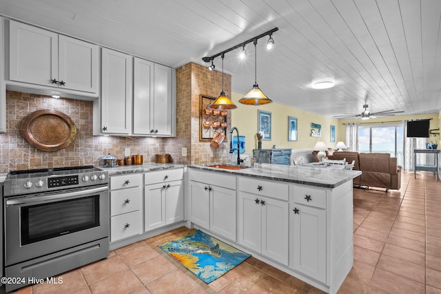
[[[232,110],[231,113],[232,127],[237,127],[240,135],[246,136],[246,152],[252,152],[253,149],[257,148],[258,109],[271,112],[271,140],[263,140],[262,148],[264,149],[271,148],[272,145],[276,145],[276,148],[312,149],[319,140],[325,142],[328,147],[334,147],[338,142],[336,137],[336,142],[331,143],[330,135],[331,125],[335,125],[336,134],[339,133],[340,124],[336,118],[321,116],[279,103],[269,103],[262,106],[243,105],[238,102],[243,95],[232,92],[232,101],[238,107]],[[296,142],[288,141],[288,116],[297,118],[298,140]],[[320,138],[311,137],[311,123],[322,125],[322,136]],[[344,129],[343,132],[345,132]]]

